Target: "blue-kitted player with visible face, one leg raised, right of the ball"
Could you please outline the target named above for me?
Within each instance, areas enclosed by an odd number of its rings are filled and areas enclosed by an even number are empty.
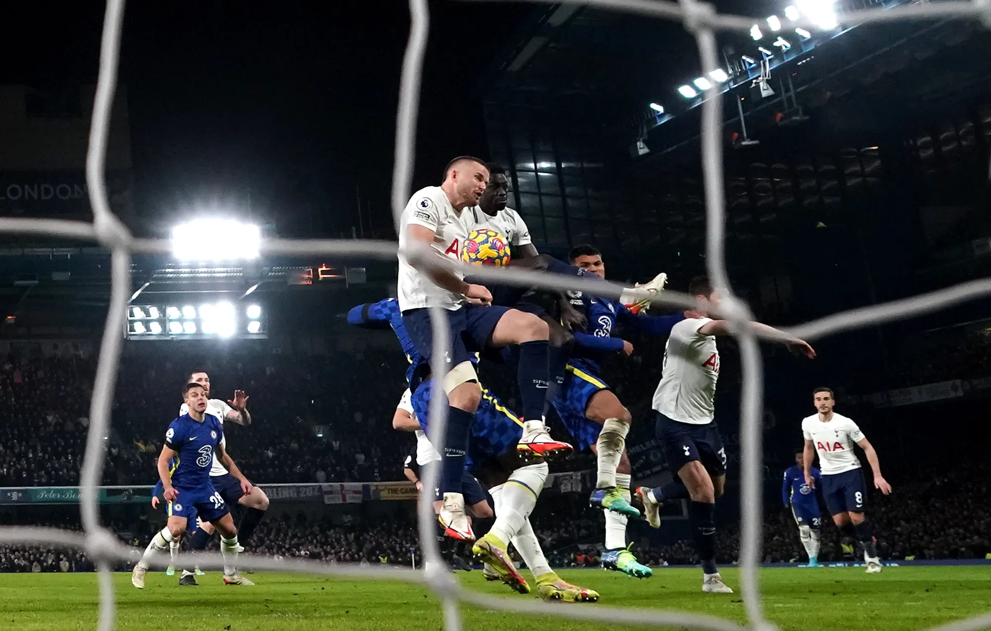
[[[580,245],[569,255],[572,265],[587,274],[606,278],[602,254],[591,245]],[[663,288],[663,275],[658,277]],[[606,513],[606,553],[603,567],[644,579],[653,571],[637,562],[626,548],[628,516],[640,516],[630,505],[630,466],[626,456],[626,434],[633,418],[602,378],[606,357],[612,353],[630,355],[633,345],[618,337],[618,323],[651,335],[666,335],[683,319],[682,314],[659,317],[633,315],[621,303],[607,298],[572,292],[572,304],[589,322],[587,331],[575,331],[575,348],[567,365],[562,389],[554,408],[565,427],[578,443],[596,454],[598,477],[596,491],[590,497],[593,506]]]

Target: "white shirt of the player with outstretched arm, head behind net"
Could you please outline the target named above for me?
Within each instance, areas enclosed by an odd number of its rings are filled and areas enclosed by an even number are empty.
[[[713,422],[719,351],[715,335],[699,332],[711,321],[711,317],[688,317],[671,328],[653,404],[668,418],[693,425]]]

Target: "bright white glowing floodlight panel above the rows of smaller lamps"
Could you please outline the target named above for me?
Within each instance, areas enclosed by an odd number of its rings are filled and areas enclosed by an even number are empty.
[[[172,254],[180,261],[258,258],[262,230],[236,220],[197,219],[172,228]]]

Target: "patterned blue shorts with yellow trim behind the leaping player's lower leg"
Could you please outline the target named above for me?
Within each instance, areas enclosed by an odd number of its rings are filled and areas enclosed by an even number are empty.
[[[433,380],[425,381],[413,393],[412,405],[416,419],[423,431],[429,430],[427,417]],[[445,401],[446,403],[446,401]],[[468,459],[465,467],[476,471],[490,459],[514,451],[523,436],[523,421],[512,410],[502,405],[498,397],[482,388],[482,402],[475,411],[472,433],[468,443]]]

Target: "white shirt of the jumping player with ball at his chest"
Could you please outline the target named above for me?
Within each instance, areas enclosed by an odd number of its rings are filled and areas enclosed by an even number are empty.
[[[406,247],[406,228],[422,225],[434,231],[433,247],[455,260],[461,258],[461,247],[469,232],[470,213],[454,210],[447,194],[439,186],[428,186],[413,194],[399,217],[399,247]],[[464,274],[458,273],[459,278]],[[420,309],[434,305],[455,311],[464,304],[461,294],[438,287],[423,272],[418,271],[399,253],[399,310]]]

